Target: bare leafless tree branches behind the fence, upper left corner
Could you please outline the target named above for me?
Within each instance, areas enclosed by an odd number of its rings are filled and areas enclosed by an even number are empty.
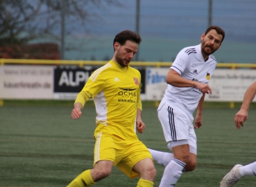
[[[79,26],[99,17],[89,7],[122,6],[118,0],[0,0],[0,46],[23,45],[43,37],[60,39],[62,1],[65,17]],[[67,28],[67,34],[74,28]]]

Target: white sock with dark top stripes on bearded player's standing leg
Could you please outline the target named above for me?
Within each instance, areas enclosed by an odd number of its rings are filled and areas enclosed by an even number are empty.
[[[186,163],[173,158],[164,169],[164,174],[162,176],[159,187],[175,186],[178,179],[182,175],[182,170],[185,166]]]

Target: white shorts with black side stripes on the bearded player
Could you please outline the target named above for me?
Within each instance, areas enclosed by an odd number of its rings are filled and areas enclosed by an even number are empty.
[[[164,138],[167,142],[188,140],[190,147],[196,146],[196,133],[194,130],[193,119],[185,115],[185,112],[178,112],[177,110],[164,104],[157,110],[158,118],[162,124]],[[177,145],[179,144],[176,142]],[[184,144],[184,143],[182,143]]]

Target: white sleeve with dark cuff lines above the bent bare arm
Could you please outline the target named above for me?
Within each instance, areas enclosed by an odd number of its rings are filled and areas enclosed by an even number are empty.
[[[182,51],[180,51],[180,53],[178,53],[178,55],[176,56],[176,59],[171,65],[170,69],[177,71],[181,75],[186,69],[188,61],[189,55],[185,53],[185,49],[182,49]]]

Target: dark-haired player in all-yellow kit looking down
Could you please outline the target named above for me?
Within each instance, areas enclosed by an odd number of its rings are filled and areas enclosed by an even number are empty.
[[[130,30],[118,33],[114,37],[112,60],[94,71],[78,94],[72,118],[80,118],[89,98],[94,99],[96,107],[94,168],[82,172],[68,187],[92,186],[108,177],[113,166],[131,179],[140,177],[137,186],[153,186],[153,158],[136,135],[136,129],[142,133],[146,127],[142,122],[141,75],[129,66],[141,41]],[[115,186],[114,181],[111,186]]]

